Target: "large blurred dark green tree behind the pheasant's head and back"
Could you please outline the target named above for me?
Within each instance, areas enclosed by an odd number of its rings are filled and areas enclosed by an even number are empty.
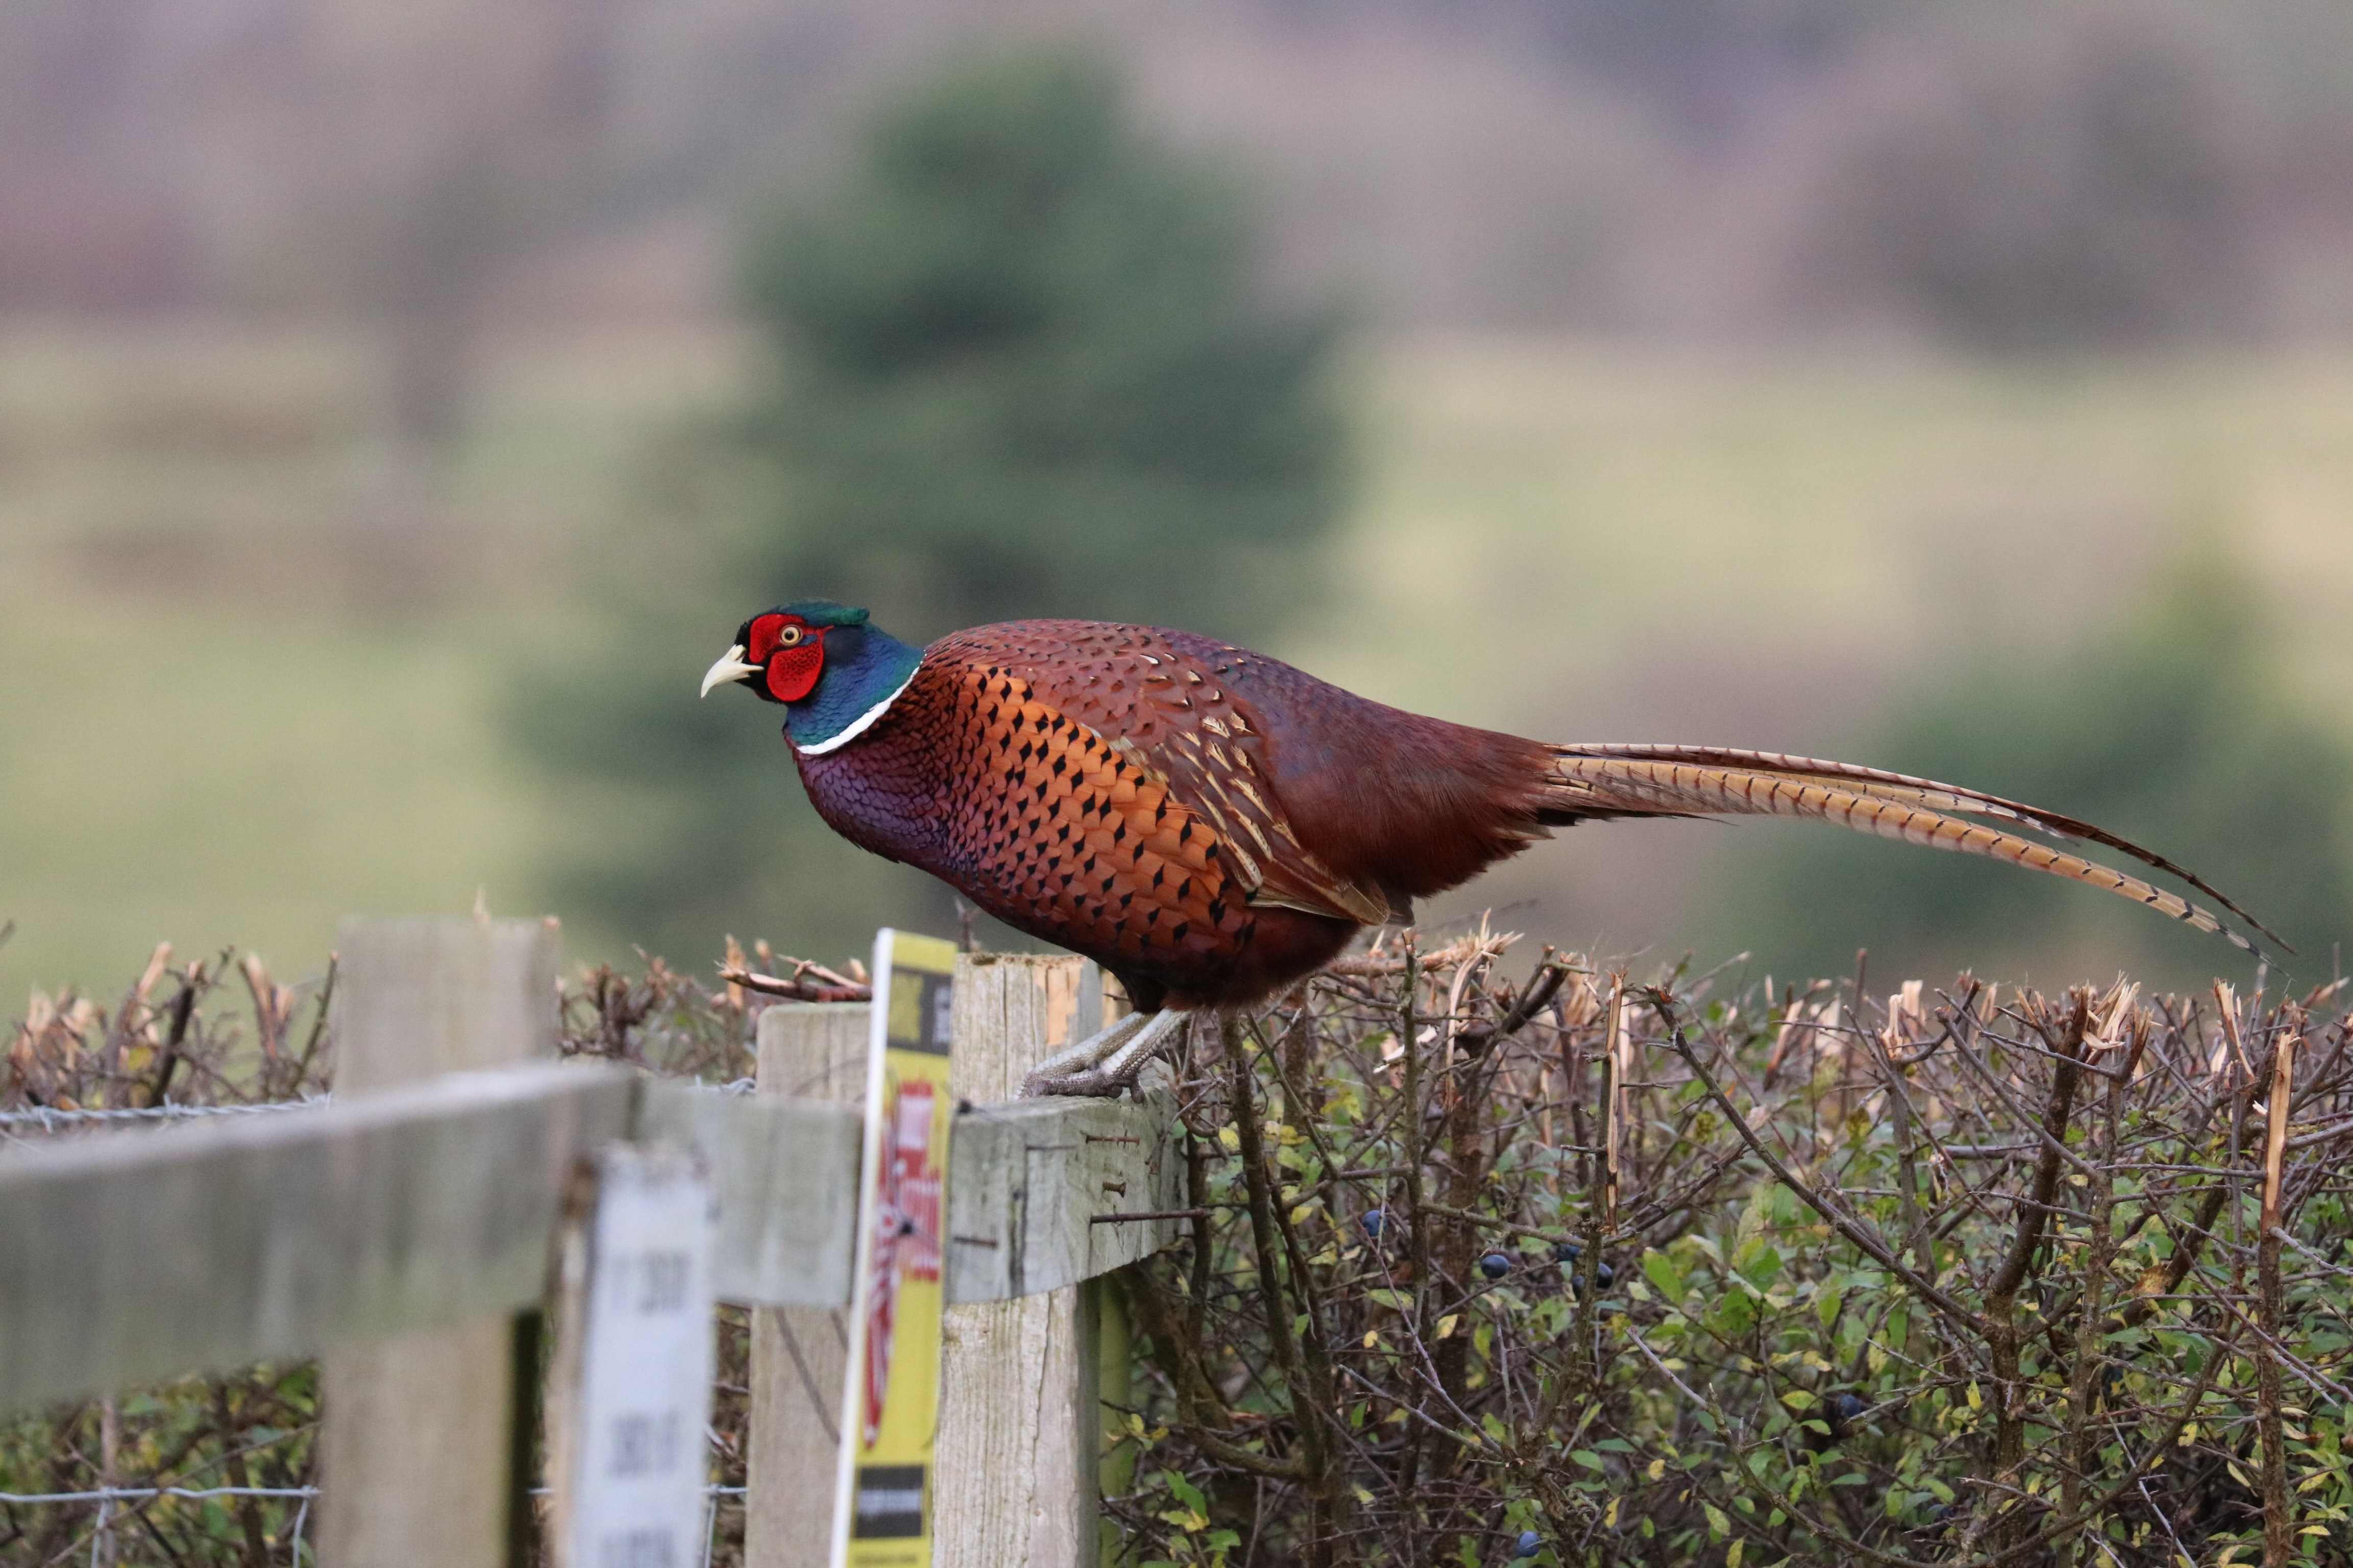
[[[774,712],[694,701],[727,632],[821,595],[906,639],[1014,616],[1264,637],[1337,515],[1334,317],[1254,299],[1233,186],[1071,52],[925,82],[744,277],[776,348],[732,442],[751,461],[671,465],[744,480],[682,505],[729,522],[626,543],[626,607],[527,684],[520,729],[586,792],[567,910],[680,957],[727,929],[838,954],[948,900],[816,823]]]

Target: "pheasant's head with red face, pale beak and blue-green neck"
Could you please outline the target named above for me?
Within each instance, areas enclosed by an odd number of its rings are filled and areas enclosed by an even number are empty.
[[[784,733],[807,755],[861,736],[913,679],[922,649],[911,649],[866,621],[866,611],[831,599],[795,599],[736,628],[734,644],[704,672],[713,686],[744,684],[784,703]]]

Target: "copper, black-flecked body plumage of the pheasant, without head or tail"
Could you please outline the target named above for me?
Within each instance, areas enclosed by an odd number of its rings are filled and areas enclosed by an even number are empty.
[[[1457,788],[1452,809],[1424,802],[1421,853],[1369,863],[1355,818],[1395,802],[1365,769],[1391,752],[1400,773],[1400,743],[1445,776],[1480,745],[1518,752],[1497,783],[1541,755],[1207,637],[1089,621],[946,637],[854,745],[795,755],[842,837],[1101,959],[1144,1006],[1212,1006],[1318,969],[1360,924],[1527,842],[1527,804]]]

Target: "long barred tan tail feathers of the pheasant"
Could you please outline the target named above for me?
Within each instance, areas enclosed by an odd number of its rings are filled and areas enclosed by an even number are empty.
[[[2217,914],[2179,893],[2151,886],[2139,877],[2049,849],[2014,832],[1962,818],[2000,818],[2054,839],[2092,842],[2132,856],[2191,884],[2224,910],[2238,914],[2266,938],[2287,947],[2254,914],[2209,886],[2195,872],[2165,856],[2120,839],[2092,823],[2042,811],[2000,795],[1962,785],[1864,769],[1824,757],[1788,757],[1722,745],[1555,745],[1553,773],[1544,816],[1558,820],[1605,816],[1800,816],[1840,823],[1885,839],[1951,849],[1965,856],[1991,856],[2031,870],[2087,882],[2169,914],[2200,931],[2228,938],[2261,957],[2261,950],[2226,926]],[[2294,952],[2294,947],[2287,947]]]

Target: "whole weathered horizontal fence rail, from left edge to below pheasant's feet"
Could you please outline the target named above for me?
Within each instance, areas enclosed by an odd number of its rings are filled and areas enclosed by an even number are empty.
[[[948,1300],[1165,1246],[1172,1220],[1096,1220],[1181,1206],[1172,1126],[1167,1095],[965,1110]],[[722,1300],[847,1305],[854,1107],[534,1063],[0,1154],[0,1408],[534,1307],[565,1182],[616,1140],[704,1159]]]

